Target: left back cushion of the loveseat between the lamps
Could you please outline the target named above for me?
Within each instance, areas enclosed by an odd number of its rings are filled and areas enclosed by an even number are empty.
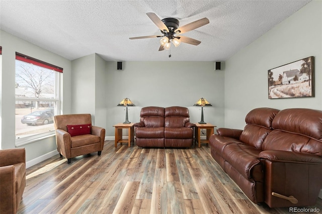
[[[148,106],[143,107],[140,113],[140,122],[145,127],[165,127],[165,108]]]

